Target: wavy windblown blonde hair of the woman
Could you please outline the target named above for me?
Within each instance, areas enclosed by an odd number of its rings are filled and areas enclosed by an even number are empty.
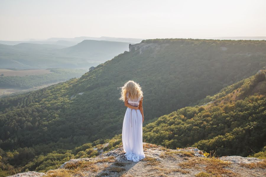
[[[141,90],[140,85],[134,81],[127,81],[123,87],[119,87],[119,88],[121,88],[121,97],[119,98],[119,100],[125,101],[127,93],[128,93],[129,99],[131,100],[138,99],[138,98],[141,99],[143,96],[143,92]]]

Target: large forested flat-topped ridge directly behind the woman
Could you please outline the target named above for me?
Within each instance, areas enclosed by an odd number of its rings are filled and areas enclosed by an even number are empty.
[[[142,86],[148,123],[254,75],[265,48],[265,41],[193,39],[131,45],[79,79],[0,99],[0,148],[70,149],[111,138],[121,132],[126,108],[117,88],[126,81]]]

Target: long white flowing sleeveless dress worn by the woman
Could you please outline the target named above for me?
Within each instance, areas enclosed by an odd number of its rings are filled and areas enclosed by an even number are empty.
[[[128,93],[126,96],[128,98]],[[132,106],[139,106],[140,98],[134,100],[128,98],[128,103]],[[127,107],[122,129],[122,143],[126,152],[124,155],[127,160],[138,162],[145,158],[142,143],[142,114],[140,109]]]

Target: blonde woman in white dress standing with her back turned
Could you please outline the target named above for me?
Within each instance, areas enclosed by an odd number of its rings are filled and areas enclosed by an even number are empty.
[[[138,162],[145,158],[142,145],[142,123],[144,121],[143,93],[138,83],[127,81],[121,88],[120,100],[127,106],[122,129],[122,143],[127,160]]]

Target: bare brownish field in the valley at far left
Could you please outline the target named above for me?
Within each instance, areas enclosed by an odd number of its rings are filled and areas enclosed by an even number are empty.
[[[10,70],[10,69],[0,69],[0,75],[4,76],[31,76],[31,75],[42,75],[51,73],[48,69],[31,69],[31,70]]]

